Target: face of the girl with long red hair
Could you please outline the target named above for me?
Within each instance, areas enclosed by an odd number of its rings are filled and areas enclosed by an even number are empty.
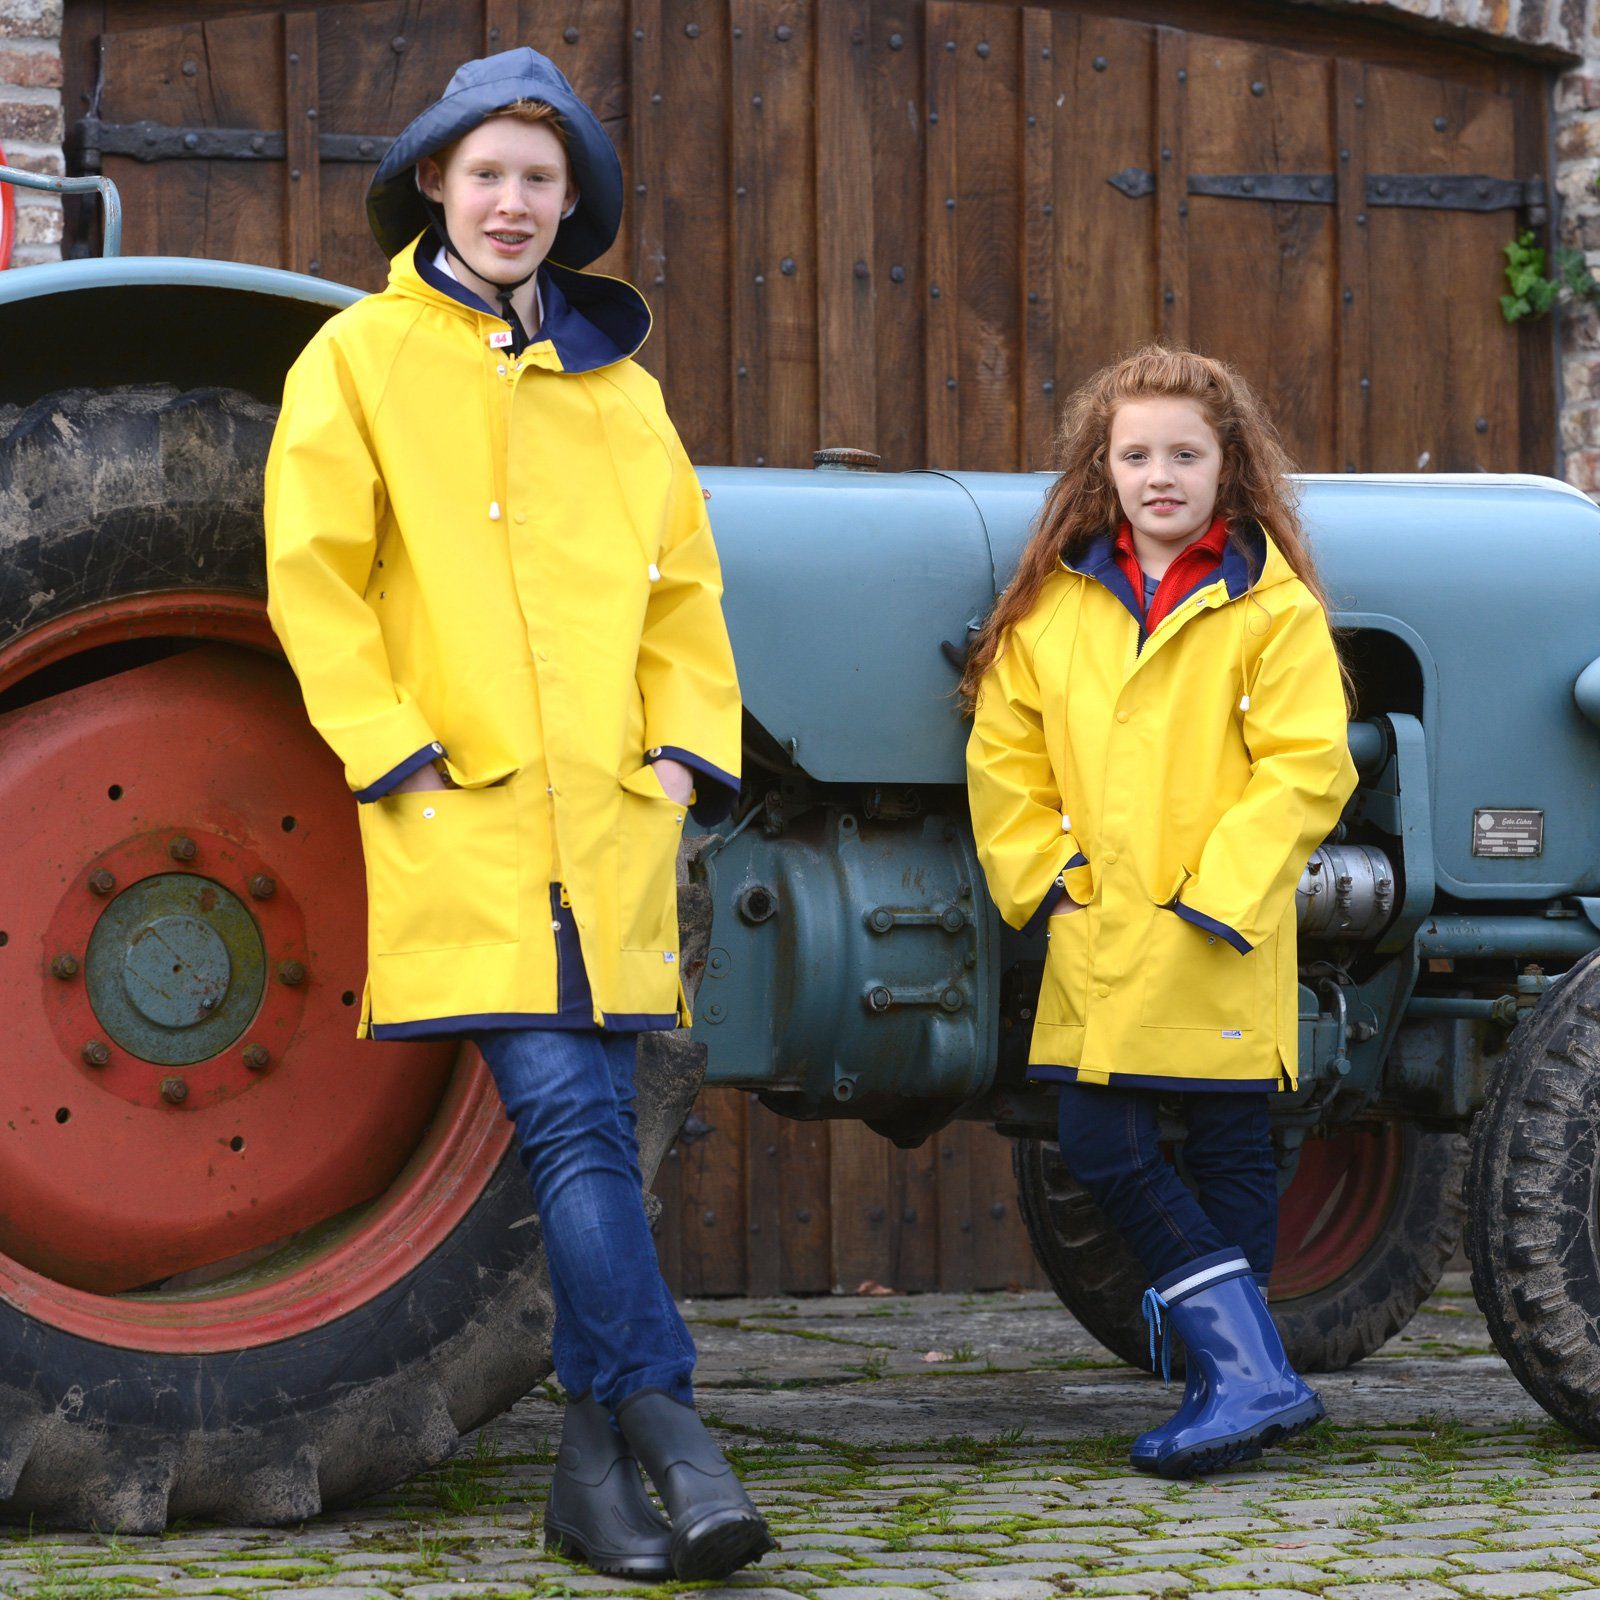
[[[1110,477],[1141,562],[1170,562],[1216,512],[1222,446],[1194,400],[1126,400],[1110,422]]]

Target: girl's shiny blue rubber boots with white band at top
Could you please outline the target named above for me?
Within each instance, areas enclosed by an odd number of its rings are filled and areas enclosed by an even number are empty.
[[[1267,1302],[1237,1250],[1190,1261],[1157,1280],[1173,1333],[1205,1394],[1197,1411],[1166,1427],[1155,1470],[1163,1478],[1216,1472],[1258,1456],[1323,1418],[1322,1400],[1283,1354]]]

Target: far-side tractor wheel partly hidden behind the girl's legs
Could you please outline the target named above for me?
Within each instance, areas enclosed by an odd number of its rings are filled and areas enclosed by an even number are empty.
[[[1034,1254],[1061,1302],[1114,1355],[1149,1371],[1138,1258],[1054,1144],[1018,1141],[1013,1166]],[[1434,1293],[1461,1238],[1464,1166],[1459,1134],[1405,1123],[1307,1142],[1282,1200],[1272,1274],[1272,1320],[1299,1371],[1354,1366]],[[1176,1349],[1173,1360],[1182,1366]]]

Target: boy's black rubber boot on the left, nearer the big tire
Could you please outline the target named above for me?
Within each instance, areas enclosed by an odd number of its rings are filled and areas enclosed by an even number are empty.
[[[672,1576],[672,1530],[638,1475],[638,1461],[592,1395],[568,1400],[562,1448],[544,1506],[544,1542],[597,1573]]]

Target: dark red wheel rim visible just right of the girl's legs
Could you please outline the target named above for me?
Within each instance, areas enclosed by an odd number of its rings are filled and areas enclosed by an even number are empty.
[[[1378,1245],[1400,1190],[1403,1152],[1398,1123],[1306,1141],[1294,1181],[1278,1203],[1274,1301],[1326,1288]]]

